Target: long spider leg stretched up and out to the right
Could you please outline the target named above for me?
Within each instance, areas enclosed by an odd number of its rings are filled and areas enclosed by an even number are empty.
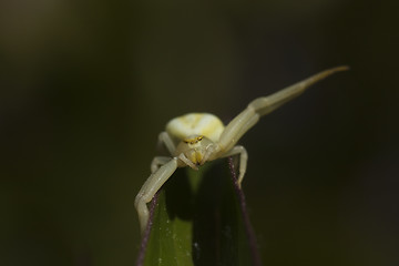
[[[347,66],[338,66],[329,70],[325,70],[318,74],[311,75],[310,78],[300,81],[294,85],[285,88],[269,96],[258,98],[252,101],[248,106],[234,117],[224,129],[219,141],[217,143],[218,151],[215,156],[223,154],[225,151],[229,151],[238,142],[238,140],[254,126],[260,116],[270,113],[278,109],[284,103],[293,100],[294,98],[301,94],[307,88],[315,84],[316,82],[327,78],[328,75],[348,70]]]

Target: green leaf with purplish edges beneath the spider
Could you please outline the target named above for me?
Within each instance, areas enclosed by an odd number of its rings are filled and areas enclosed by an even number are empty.
[[[143,265],[254,265],[250,225],[222,162],[178,170],[163,186]]]

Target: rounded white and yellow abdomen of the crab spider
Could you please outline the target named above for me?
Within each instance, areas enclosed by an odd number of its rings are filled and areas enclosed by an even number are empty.
[[[217,142],[224,124],[209,113],[188,113],[171,120],[166,124],[166,132],[181,141],[191,135],[203,135],[213,142]]]

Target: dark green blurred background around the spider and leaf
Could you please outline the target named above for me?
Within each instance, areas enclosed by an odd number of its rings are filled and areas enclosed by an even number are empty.
[[[396,1],[0,3],[0,265],[133,265],[176,115],[348,64],[243,140],[265,265],[399,265]]]

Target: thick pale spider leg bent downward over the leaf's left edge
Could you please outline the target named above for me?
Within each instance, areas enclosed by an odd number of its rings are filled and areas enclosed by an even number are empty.
[[[154,172],[145,181],[144,185],[140,190],[137,196],[134,201],[134,206],[139,214],[140,228],[141,233],[144,233],[145,227],[149,223],[149,208],[146,204],[151,202],[155,193],[161,188],[161,186],[171,177],[171,175],[177,168],[177,158],[173,157],[168,162],[165,162],[156,172]]]

